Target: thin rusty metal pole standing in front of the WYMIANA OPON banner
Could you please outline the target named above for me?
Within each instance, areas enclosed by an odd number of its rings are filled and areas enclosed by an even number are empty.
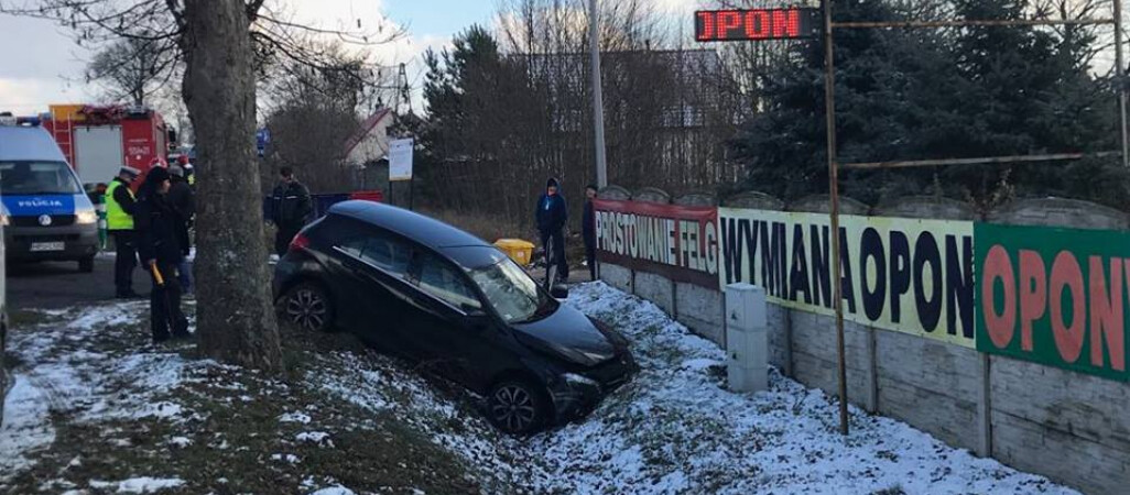
[[[836,67],[833,59],[832,0],[824,9],[824,106],[828,129],[828,193],[832,197],[832,286],[836,307],[836,353],[840,356],[840,433],[847,434],[847,365],[844,357],[844,299],[840,266],[840,170],[836,163]]]

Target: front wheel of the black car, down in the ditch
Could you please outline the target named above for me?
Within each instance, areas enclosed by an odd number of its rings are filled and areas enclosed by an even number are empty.
[[[548,423],[549,400],[542,387],[525,380],[505,380],[490,388],[486,414],[496,428],[527,435]]]

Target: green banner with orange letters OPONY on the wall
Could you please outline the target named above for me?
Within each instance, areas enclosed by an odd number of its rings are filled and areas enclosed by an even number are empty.
[[[1130,232],[974,226],[976,347],[1128,380]]]

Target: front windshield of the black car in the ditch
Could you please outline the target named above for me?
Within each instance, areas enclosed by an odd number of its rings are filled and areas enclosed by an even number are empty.
[[[545,318],[557,309],[557,301],[510,258],[470,271],[471,280],[483,290],[490,306],[508,324]]]

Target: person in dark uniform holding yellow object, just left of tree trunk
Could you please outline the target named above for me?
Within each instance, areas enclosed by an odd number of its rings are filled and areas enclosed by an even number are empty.
[[[138,253],[141,264],[149,271],[153,292],[149,294],[150,329],[153,342],[173,337],[189,337],[189,320],[181,311],[181,283],[177,266],[184,259],[177,240],[180,214],[168,201],[168,170],[154,167],[138,192],[133,206],[134,228],[138,233]]]

